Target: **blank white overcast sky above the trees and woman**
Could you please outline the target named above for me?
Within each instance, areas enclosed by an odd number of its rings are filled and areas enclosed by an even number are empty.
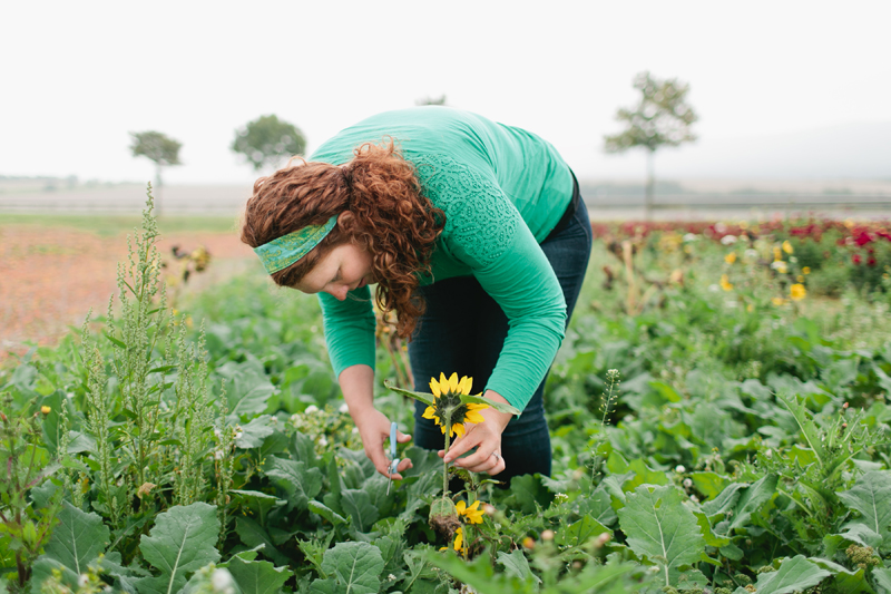
[[[601,147],[636,72],[689,82],[703,139],[887,123],[889,22],[887,0],[3,2],[0,175],[146,181],[128,132],[156,129],[184,145],[166,183],[246,184],[228,146],[260,115],[312,152],[446,94],[579,176],[635,176],[642,155]]]

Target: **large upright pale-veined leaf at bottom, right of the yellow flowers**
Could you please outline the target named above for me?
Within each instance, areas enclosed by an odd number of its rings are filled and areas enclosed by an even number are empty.
[[[665,585],[677,586],[670,583],[670,569],[701,559],[705,539],[699,534],[696,517],[684,506],[674,485],[637,487],[628,494],[618,515],[628,546],[662,565]]]

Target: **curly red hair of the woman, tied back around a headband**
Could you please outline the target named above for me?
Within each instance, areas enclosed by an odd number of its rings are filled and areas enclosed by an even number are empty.
[[[414,165],[402,157],[392,138],[359,146],[342,166],[297,160],[254,183],[242,217],[242,241],[257,247],[352,213],[314,250],[272,279],[295,286],[333,247],[353,241],[371,253],[379,306],[395,311],[396,332],[411,337],[424,311],[415,295],[419,273],[430,272],[430,256],[446,224],[446,214],[421,194]]]

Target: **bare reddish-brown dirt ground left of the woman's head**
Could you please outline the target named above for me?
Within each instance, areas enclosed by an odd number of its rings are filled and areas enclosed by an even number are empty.
[[[234,233],[183,232],[163,236],[158,250],[174,273],[172,247],[204,245],[212,262],[182,291],[206,289],[255,264]],[[87,312],[104,314],[117,295],[117,264],[127,261],[126,234],[101,236],[74,228],[0,226],[0,362],[30,344],[55,344]]]

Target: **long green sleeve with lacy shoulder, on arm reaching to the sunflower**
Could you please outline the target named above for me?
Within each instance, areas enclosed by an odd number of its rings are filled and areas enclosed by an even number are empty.
[[[424,184],[446,212],[443,249],[470,267],[508,318],[486,388],[523,410],[565,335],[566,301],[557,275],[493,176],[442,159],[431,171]]]

